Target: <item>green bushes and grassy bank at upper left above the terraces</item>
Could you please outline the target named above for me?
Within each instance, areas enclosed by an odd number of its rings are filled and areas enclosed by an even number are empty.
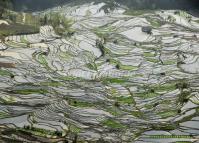
[[[21,35],[39,33],[41,25],[52,25],[57,34],[71,36],[74,34],[74,29],[71,28],[73,20],[68,19],[59,13],[50,13],[45,16],[35,16],[30,13],[19,13],[10,10],[4,10],[0,14],[3,19],[9,22],[9,25],[0,25],[0,38],[8,35]],[[21,41],[27,43],[22,37]]]

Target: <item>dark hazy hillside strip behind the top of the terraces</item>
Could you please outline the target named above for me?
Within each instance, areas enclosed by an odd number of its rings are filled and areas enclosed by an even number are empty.
[[[13,0],[13,3],[18,11],[34,11],[68,3],[79,5],[92,1],[109,3],[114,0]],[[115,0],[115,2],[136,9],[199,9],[197,0]]]

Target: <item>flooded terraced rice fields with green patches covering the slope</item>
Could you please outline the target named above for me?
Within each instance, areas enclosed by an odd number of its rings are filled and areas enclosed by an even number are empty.
[[[105,6],[0,43],[1,142],[199,142],[199,18]]]

